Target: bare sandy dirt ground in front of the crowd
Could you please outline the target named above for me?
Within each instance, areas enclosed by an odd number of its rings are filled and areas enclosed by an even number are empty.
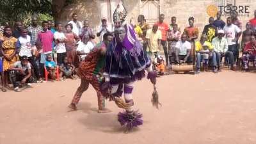
[[[157,81],[159,110],[152,107],[152,84],[136,83],[134,100],[144,124],[124,134],[112,113],[97,113],[90,86],[79,110],[67,108],[79,79],[33,84],[22,93],[0,92],[0,144],[255,144],[256,73],[225,71],[175,74]]]

